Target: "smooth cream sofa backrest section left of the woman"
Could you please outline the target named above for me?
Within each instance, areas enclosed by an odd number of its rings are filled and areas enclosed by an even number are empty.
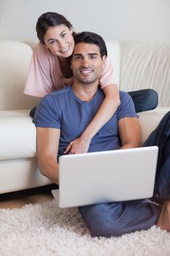
[[[0,110],[30,109],[39,101],[23,94],[31,56],[25,43],[0,39]]]

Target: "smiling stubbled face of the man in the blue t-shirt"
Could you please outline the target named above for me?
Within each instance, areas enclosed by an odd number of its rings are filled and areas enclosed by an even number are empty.
[[[72,55],[72,71],[74,80],[89,84],[98,80],[101,76],[102,66],[106,56],[101,59],[97,45],[85,42],[77,43]]]

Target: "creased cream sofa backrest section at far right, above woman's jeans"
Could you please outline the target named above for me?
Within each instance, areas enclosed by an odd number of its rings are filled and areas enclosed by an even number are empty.
[[[155,89],[159,106],[170,107],[170,43],[120,42],[120,89]]]

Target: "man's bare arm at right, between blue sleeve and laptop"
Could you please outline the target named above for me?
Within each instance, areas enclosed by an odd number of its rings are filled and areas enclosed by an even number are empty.
[[[118,130],[123,148],[137,148],[142,146],[141,129],[138,118],[125,117],[118,121]]]

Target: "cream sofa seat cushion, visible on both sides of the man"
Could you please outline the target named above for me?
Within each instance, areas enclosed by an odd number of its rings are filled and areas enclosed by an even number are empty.
[[[142,143],[170,108],[138,113]],[[36,127],[29,110],[0,111],[0,160],[36,157]]]

